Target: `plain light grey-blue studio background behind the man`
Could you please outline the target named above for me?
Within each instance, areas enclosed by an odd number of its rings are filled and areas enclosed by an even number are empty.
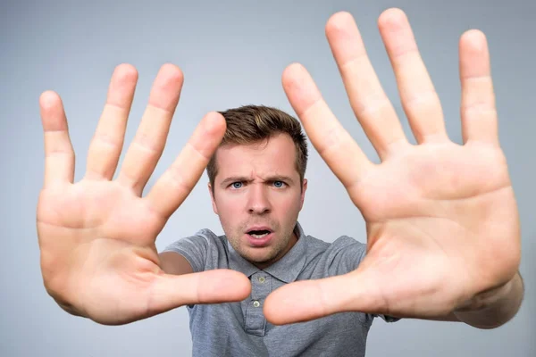
[[[353,13],[383,86],[402,114],[376,25],[378,15],[390,6],[401,7],[410,18],[442,99],[449,135],[456,142],[461,140],[457,41],[470,28],[482,29],[489,37],[500,138],[521,212],[521,271],[527,291],[515,320],[494,330],[448,322],[402,320],[388,325],[377,320],[367,355],[535,356],[533,0],[2,2],[0,355],[188,356],[191,351],[184,308],[127,326],[105,327],[68,315],[46,295],[35,228],[43,176],[41,92],[53,89],[63,97],[80,179],[113,68],[130,62],[139,71],[128,143],[156,72],[164,62],[180,65],[185,87],[148,189],[205,112],[241,104],[267,104],[292,112],[281,88],[281,72],[290,62],[302,62],[339,120],[377,160],[350,110],[324,24],[334,12]],[[407,129],[406,121],[404,125]],[[309,168],[309,190],[300,216],[306,233],[326,241],[343,234],[364,240],[359,212],[314,151]],[[199,228],[222,232],[206,182],[204,176],[172,216],[157,240],[159,249]],[[332,206],[339,209],[326,209]]]

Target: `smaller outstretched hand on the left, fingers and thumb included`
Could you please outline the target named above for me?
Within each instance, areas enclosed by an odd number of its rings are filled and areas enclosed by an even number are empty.
[[[185,304],[240,301],[250,291],[246,276],[236,271],[172,276],[161,270],[156,236],[200,178],[222,140],[225,120],[207,114],[176,161],[142,197],[163,153],[183,77],[171,64],[162,67],[138,133],[113,179],[137,79],[130,65],[114,71],[86,175],[77,183],[62,101],[54,92],[40,98],[46,162],[37,228],[46,290],[64,310],[111,325]]]

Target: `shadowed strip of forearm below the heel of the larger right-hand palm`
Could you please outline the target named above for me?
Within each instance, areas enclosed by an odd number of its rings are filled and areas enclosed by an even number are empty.
[[[523,295],[523,278],[517,272],[505,286],[476,297],[469,306],[454,314],[458,320],[475,328],[498,328],[519,311]]]

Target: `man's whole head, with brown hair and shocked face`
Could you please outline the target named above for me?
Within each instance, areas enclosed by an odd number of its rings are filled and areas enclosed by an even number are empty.
[[[230,245],[265,268],[296,243],[306,137],[299,121],[278,109],[248,105],[221,113],[227,129],[206,168],[214,212]]]

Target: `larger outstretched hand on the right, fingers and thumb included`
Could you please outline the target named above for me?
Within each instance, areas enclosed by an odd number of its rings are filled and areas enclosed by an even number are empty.
[[[446,316],[503,286],[520,262],[520,227],[498,143],[490,59],[482,32],[460,39],[463,145],[448,139],[440,100],[406,15],[379,20],[417,145],[408,143],[365,53],[356,23],[335,14],[326,34],[357,120],[381,158],[370,162],[299,64],[283,86],[314,147],[348,190],[367,228],[367,253],[344,276],[283,286],[264,305],[276,324],[339,311]]]

